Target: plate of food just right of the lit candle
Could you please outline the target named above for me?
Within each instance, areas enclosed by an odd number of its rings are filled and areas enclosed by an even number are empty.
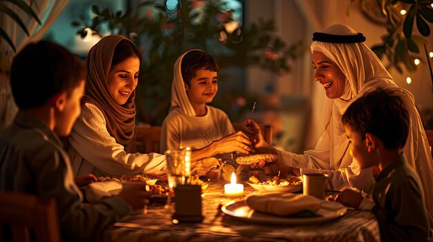
[[[280,179],[275,176],[272,179],[260,181],[257,177],[250,177],[246,181],[248,185],[257,191],[262,192],[300,192],[302,191],[302,181],[299,177],[288,177]]]

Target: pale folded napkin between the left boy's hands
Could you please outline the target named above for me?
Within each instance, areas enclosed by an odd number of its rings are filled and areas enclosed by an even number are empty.
[[[120,181],[98,181],[86,187],[84,193],[89,202],[98,201],[104,197],[115,196],[122,190]]]

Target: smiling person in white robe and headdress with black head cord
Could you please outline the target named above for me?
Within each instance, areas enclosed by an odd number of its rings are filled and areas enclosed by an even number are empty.
[[[278,154],[278,163],[302,168],[304,173],[326,173],[333,189],[358,188],[368,190],[374,181],[374,171],[360,170],[349,154],[349,140],[342,125],[342,114],[358,97],[374,88],[400,94],[410,115],[409,137],[403,152],[421,179],[425,205],[433,225],[433,161],[427,137],[415,107],[414,96],[398,88],[376,54],[364,43],[365,37],[349,26],[335,24],[313,34],[311,52],[315,65],[315,81],[324,86],[326,101],[323,131],[313,150],[293,154],[275,150],[264,142],[259,126],[253,121],[257,135],[255,150]],[[398,132],[398,130],[396,130]],[[259,164],[260,166],[263,164]]]

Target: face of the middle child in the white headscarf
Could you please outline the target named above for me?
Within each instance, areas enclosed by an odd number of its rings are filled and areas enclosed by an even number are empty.
[[[210,103],[218,92],[218,72],[198,70],[196,76],[186,85],[188,99],[192,105]]]

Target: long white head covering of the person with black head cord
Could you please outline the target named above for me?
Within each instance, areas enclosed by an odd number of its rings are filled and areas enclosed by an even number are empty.
[[[335,24],[321,32],[336,35],[357,34],[349,26]],[[430,226],[433,226],[433,161],[421,118],[415,107],[413,95],[398,88],[376,54],[364,43],[325,43],[313,41],[311,52],[322,52],[334,61],[347,77],[344,94],[340,99],[328,99],[324,112],[324,130],[329,133],[329,159],[331,165],[347,163],[351,159],[347,154],[349,141],[346,138],[341,116],[347,107],[358,97],[371,89],[383,88],[400,94],[410,115],[409,136],[403,151],[409,165],[416,170],[421,179],[425,204],[430,215]],[[343,100],[344,99],[344,100]],[[396,131],[398,132],[398,131]],[[314,151],[312,151],[314,152]]]

